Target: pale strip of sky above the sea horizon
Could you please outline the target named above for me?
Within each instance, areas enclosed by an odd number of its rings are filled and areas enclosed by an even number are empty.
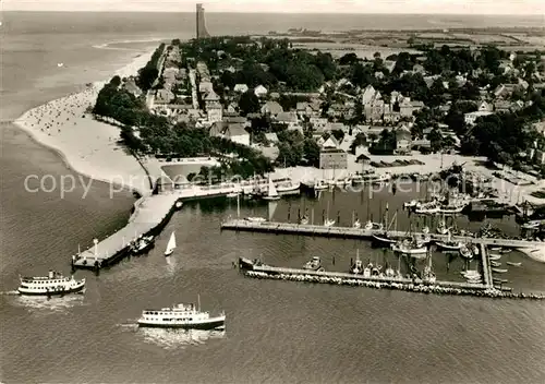
[[[0,0],[3,11],[194,12],[195,0]],[[208,0],[207,12],[545,15],[545,0]],[[545,26],[545,17],[544,17]]]

